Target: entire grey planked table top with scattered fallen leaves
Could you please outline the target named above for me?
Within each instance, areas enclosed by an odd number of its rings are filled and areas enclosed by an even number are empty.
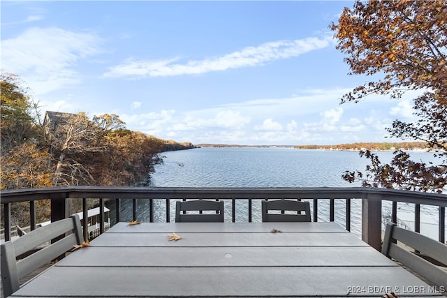
[[[169,241],[173,232],[182,239]],[[440,296],[336,223],[118,223],[13,296],[380,297],[386,292]]]

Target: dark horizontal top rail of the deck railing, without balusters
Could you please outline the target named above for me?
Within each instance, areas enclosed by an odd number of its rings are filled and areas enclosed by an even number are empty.
[[[120,187],[120,186],[61,186],[51,188],[27,188],[1,192],[1,202],[13,203],[24,200],[63,198],[153,198],[153,199],[263,199],[302,198],[337,199],[365,198],[368,200],[390,200],[414,204],[431,204],[447,207],[447,195],[421,193],[387,188],[184,188],[184,187]]]

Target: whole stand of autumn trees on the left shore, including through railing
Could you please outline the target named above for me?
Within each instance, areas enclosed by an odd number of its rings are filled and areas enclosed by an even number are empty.
[[[48,126],[17,75],[1,72],[0,79],[1,189],[149,185],[164,140],[127,130],[115,114],[59,113],[63,121]],[[49,215],[49,202],[39,200],[37,220]],[[11,216],[27,225],[27,203],[14,204]]]

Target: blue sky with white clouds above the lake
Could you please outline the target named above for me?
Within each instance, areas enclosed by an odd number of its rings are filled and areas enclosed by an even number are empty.
[[[390,142],[393,120],[414,120],[414,93],[340,105],[371,80],[349,75],[329,29],[353,1],[0,5],[0,67],[43,113],[117,114],[193,144]]]

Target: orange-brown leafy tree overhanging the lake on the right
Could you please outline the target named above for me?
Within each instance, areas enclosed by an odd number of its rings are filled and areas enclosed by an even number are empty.
[[[363,186],[442,192],[447,185],[447,2],[356,1],[344,8],[338,24],[332,24],[337,49],[351,75],[374,76],[342,97],[356,102],[369,94],[401,98],[409,90],[423,93],[413,99],[417,121],[396,119],[387,128],[391,137],[427,142],[439,163],[412,161],[395,151],[392,161],[381,163],[370,151],[365,174],[346,172],[346,181]]]

